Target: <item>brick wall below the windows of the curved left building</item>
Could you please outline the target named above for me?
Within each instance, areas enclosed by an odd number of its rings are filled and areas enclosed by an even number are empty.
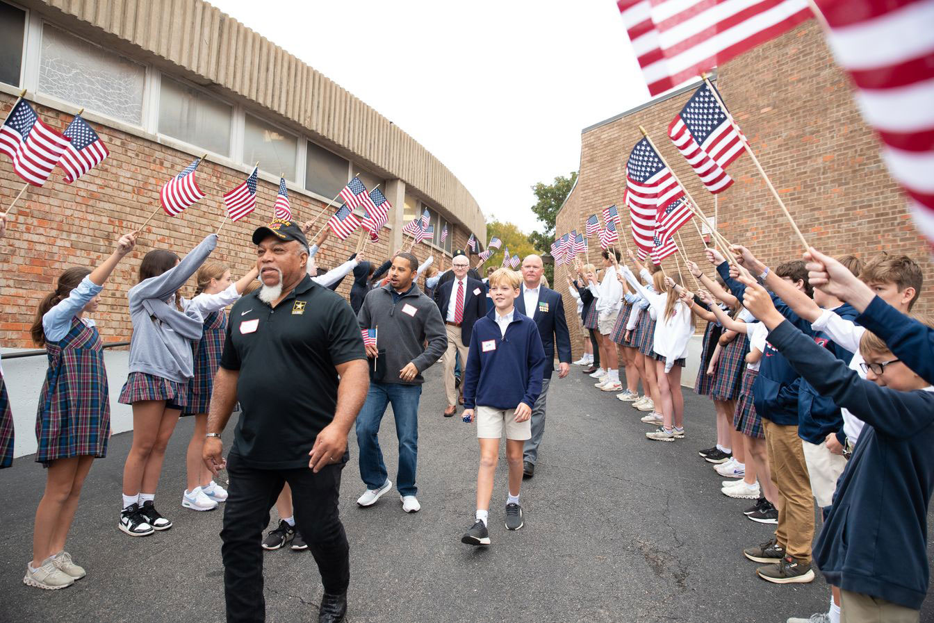
[[[0,116],[6,118],[15,98],[0,94]],[[59,131],[71,120],[57,110],[35,106],[39,116]],[[28,337],[35,306],[54,289],[55,279],[65,268],[102,262],[115,247],[120,234],[134,230],[159,206],[159,189],[193,160],[191,154],[92,123],[110,150],[110,156],[74,184],[62,181],[56,169],[42,188],[30,187],[23,193],[7,223],[7,237],[0,240],[0,344],[4,347],[33,347]],[[246,173],[217,163],[198,167],[198,185],[205,199],[175,218],[162,208],[140,236],[134,252],[123,259],[106,284],[94,319],[105,341],[130,339],[132,327],[126,292],[137,281],[143,256],[153,248],[167,248],[184,256],[201,239],[216,232],[224,214],[221,196],[240,184]],[[12,171],[7,156],[0,156],[0,204],[2,209],[21,190],[22,180]],[[212,259],[227,262],[234,278],[242,276],[255,261],[250,242],[252,231],[272,218],[278,185],[260,180],[257,209],[246,219],[227,222],[220,233]],[[290,192],[293,216],[298,220],[318,216],[324,204],[297,192]],[[396,209],[401,209],[396,208]],[[318,218],[312,234],[325,222]],[[366,257],[382,262],[389,250],[383,241],[369,244]],[[310,238],[309,238],[310,240]],[[345,262],[357,245],[357,234],[346,241],[330,236],[316,258],[318,265],[333,268]],[[422,250],[422,255],[425,252]],[[353,283],[347,277],[337,291],[347,296]],[[194,291],[194,278],[182,290]]]

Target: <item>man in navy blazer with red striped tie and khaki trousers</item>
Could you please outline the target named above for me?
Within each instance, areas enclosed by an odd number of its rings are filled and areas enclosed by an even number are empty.
[[[470,334],[474,322],[487,315],[487,290],[483,282],[467,276],[470,260],[463,251],[458,251],[451,261],[453,277],[434,290],[434,302],[441,310],[441,319],[447,330],[445,352],[445,394],[447,408],[445,418],[458,412],[458,389],[454,380],[454,360],[460,353],[461,370],[470,351]],[[460,303],[460,310],[458,309]]]

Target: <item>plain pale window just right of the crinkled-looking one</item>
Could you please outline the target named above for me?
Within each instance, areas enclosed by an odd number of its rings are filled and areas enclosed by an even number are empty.
[[[160,134],[229,156],[232,116],[233,106],[163,75],[159,92]]]

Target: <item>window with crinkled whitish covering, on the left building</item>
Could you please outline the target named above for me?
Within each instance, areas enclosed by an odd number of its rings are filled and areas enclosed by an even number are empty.
[[[140,125],[146,69],[44,24],[38,90],[75,106]]]

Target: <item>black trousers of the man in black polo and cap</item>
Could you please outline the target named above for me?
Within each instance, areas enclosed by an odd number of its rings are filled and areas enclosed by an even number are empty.
[[[224,563],[224,597],[229,623],[265,620],[262,598],[262,531],[283,484],[292,490],[295,524],[318,563],[324,591],[339,595],[350,583],[350,548],[337,512],[344,461],[315,474],[308,468],[260,470],[236,455],[227,458],[230,488],[224,503],[220,555]]]

